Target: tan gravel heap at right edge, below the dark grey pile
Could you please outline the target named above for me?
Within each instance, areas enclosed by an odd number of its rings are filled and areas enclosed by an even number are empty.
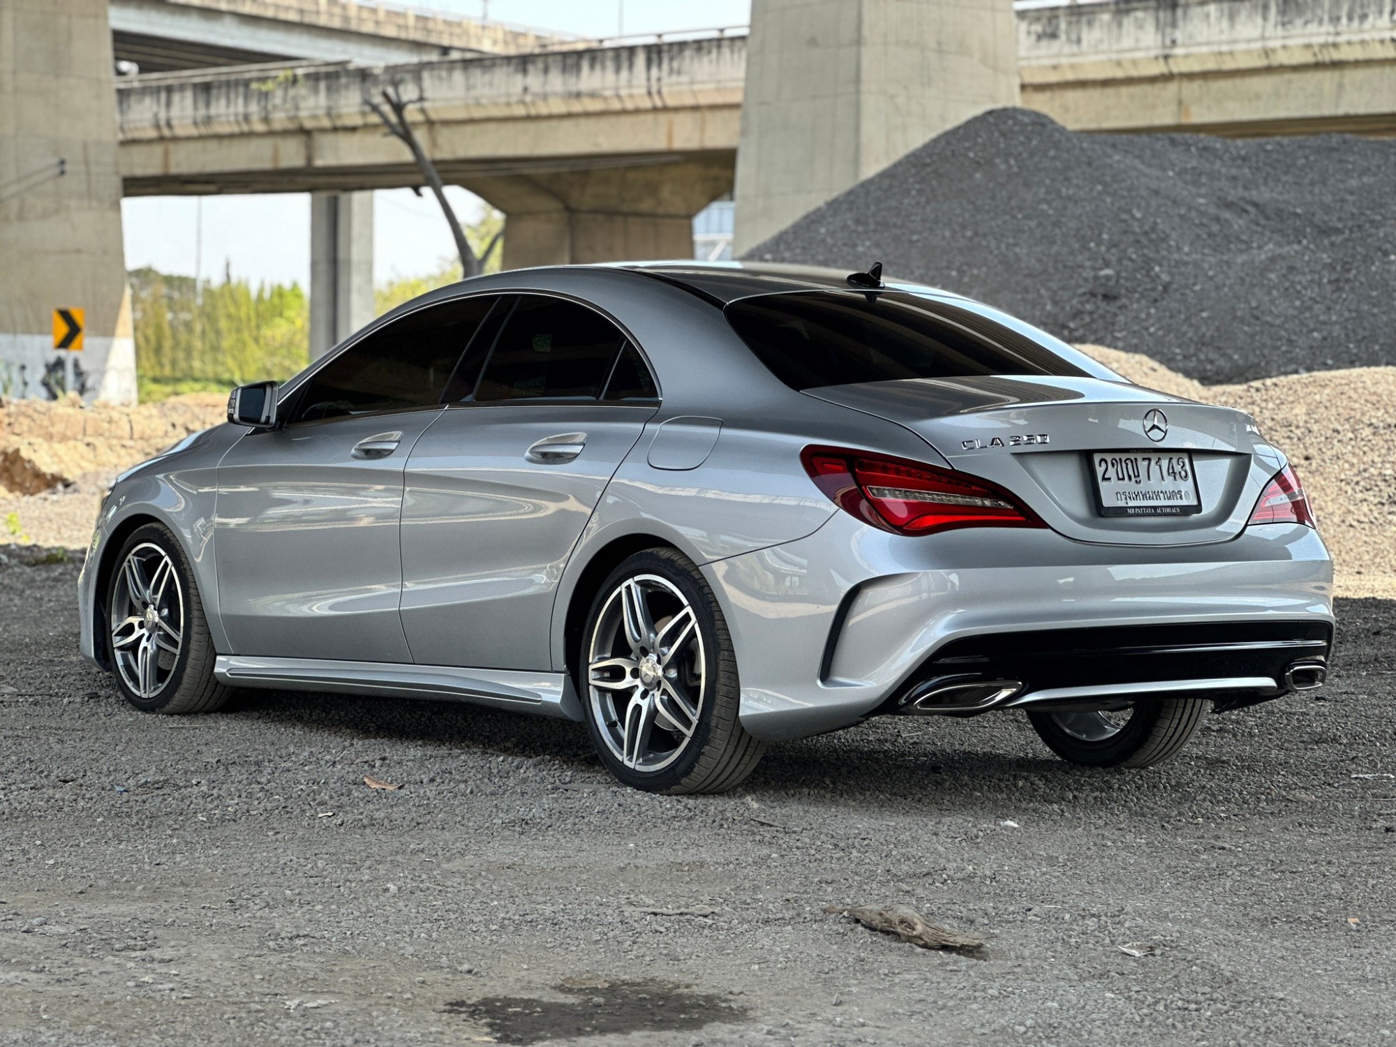
[[[1396,468],[1378,452],[1396,443],[1396,367],[1202,385],[1148,356],[1078,348],[1139,385],[1254,416],[1265,438],[1289,455],[1314,501],[1337,591],[1396,597]]]

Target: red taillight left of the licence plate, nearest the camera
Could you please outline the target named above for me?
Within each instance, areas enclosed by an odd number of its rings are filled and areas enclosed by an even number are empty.
[[[1002,487],[951,469],[838,447],[807,447],[800,461],[831,501],[898,535],[1046,526]]]

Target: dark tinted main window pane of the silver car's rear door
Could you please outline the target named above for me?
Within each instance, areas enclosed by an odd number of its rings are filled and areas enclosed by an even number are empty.
[[[599,313],[524,295],[484,363],[476,402],[596,399],[625,335]]]

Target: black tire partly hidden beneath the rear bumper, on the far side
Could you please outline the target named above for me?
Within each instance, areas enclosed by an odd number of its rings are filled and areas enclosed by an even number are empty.
[[[1209,699],[1159,698],[1134,704],[1129,718],[1108,737],[1086,738],[1072,730],[1071,713],[1029,712],[1027,720],[1047,748],[1085,766],[1153,766],[1177,755],[1202,725]],[[1076,713],[1078,716],[1081,713]]]

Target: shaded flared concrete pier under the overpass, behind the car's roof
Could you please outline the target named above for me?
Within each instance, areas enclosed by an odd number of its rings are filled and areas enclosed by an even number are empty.
[[[732,159],[688,158],[466,184],[504,211],[504,268],[692,258],[692,218],[732,191]]]

